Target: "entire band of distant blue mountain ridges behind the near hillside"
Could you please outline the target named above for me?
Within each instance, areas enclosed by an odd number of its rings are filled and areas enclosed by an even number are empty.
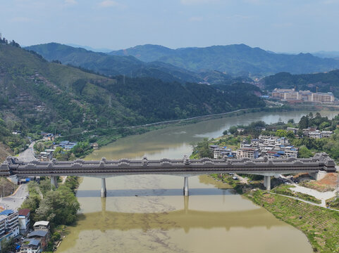
[[[263,77],[278,72],[304,74],[326,72],[339,68],[339,60],[320,58],[310,53],[290,55],[273,53],[245,44],[209,46],[205,48],[171,49],[157,45],[143,45],[110,53],[94,53],[83,48],[61,44],[41,44],[27,47],[47,60],[60,60],[64,64],[81,66],[102,74],[130,74],[132,77],[159,77],[166,74],[176,81],[208,82],[219,72],[221,80],[233,77]],[[226,74],[223,76],[223,74]],[[213,83],[213,82],[212,82]]]

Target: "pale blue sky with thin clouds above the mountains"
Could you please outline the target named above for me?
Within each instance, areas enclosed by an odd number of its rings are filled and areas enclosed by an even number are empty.
[[[0,32],[24,46],[339,51],[338,24],[339,0],[0,0]]]

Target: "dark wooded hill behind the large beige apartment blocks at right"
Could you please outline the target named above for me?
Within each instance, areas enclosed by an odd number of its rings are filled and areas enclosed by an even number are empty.
[[[262,80],[265,89],[273,90],[275,88],[297,90],[310,90],[316,92],[333,92],[336,98],[339,98],[339,70],[333,70],[327,73],[316,74],[290,74],[281,72]]]

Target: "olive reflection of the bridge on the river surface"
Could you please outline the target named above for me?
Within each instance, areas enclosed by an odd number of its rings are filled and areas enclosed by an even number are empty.
[[[106,198],[101,199],[101,212],[85,214],[85,230],[106,231],[116,229],[128,231],[132,229],[161,229],[168,231],[182,228],[188,233],[191,228],[253,228],[264,226],[282,226],[283,223],[273,219],[266,221],[267,212],[264,209],[245,211],[209,212],[189,209],[189,197],[183,196],[184,209],[156,213],[128,213],[106,211]],[[273,223],[272,223],[273,222]],[[80,222],[81,223],[81,222]],[[81,225],[79,226],[81,228]]]

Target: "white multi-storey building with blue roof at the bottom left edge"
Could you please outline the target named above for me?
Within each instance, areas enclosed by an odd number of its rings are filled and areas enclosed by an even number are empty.
[[[0,213],[0,245],[3,240],[15,238],[19,235],[18,211],[11,209]]]

